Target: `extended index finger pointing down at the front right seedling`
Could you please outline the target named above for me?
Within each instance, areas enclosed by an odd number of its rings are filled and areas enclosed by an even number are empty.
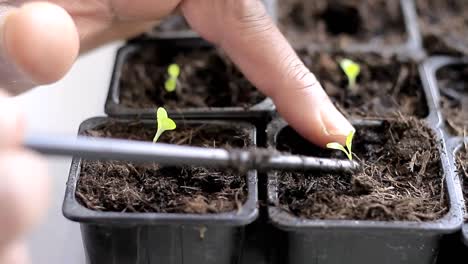
[[[332,141],[344,144],[354,128],[299,59],[261,1],[217,0],[221,2],[218,12],[222,11],[222,15],[206,15],[222,20],[211,21],[222,27],[201,32],[202,36],[221,46],[244,75],[273,99],[278,112],[302,136],[320,146]],[[217,3],[211,1],[213,6]]]

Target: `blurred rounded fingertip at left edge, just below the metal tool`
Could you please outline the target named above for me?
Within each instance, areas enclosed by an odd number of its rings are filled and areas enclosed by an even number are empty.
[[[49,179],[38,156],[11,150],[0,155],[0,245],[21,237],[44,214]]]

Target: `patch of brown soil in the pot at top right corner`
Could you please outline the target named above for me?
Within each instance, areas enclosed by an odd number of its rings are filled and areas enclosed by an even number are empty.
[[[468,1],[416,0],[429,54],[468,54]]]

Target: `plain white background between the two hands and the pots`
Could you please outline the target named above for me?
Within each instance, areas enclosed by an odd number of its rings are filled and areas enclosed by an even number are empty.
[[[83,55],[60,82],[14,98],[26,114],[28,133],[76,135],[83,120],[104,115],[118,46],[118,43],[111,44]],[[71,159],[48,158],[47,161],[53,182],[52,199],[46,218],[28,238],[33,264],[83,264],[79,225],[62,215]]]

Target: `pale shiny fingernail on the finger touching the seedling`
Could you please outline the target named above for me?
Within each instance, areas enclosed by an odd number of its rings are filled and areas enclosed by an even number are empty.
[[[355,131],[351,123],[329,100],[322,106],[320,117],[324,133],[328,136],[339,137],[344,141],[351,131]]]

